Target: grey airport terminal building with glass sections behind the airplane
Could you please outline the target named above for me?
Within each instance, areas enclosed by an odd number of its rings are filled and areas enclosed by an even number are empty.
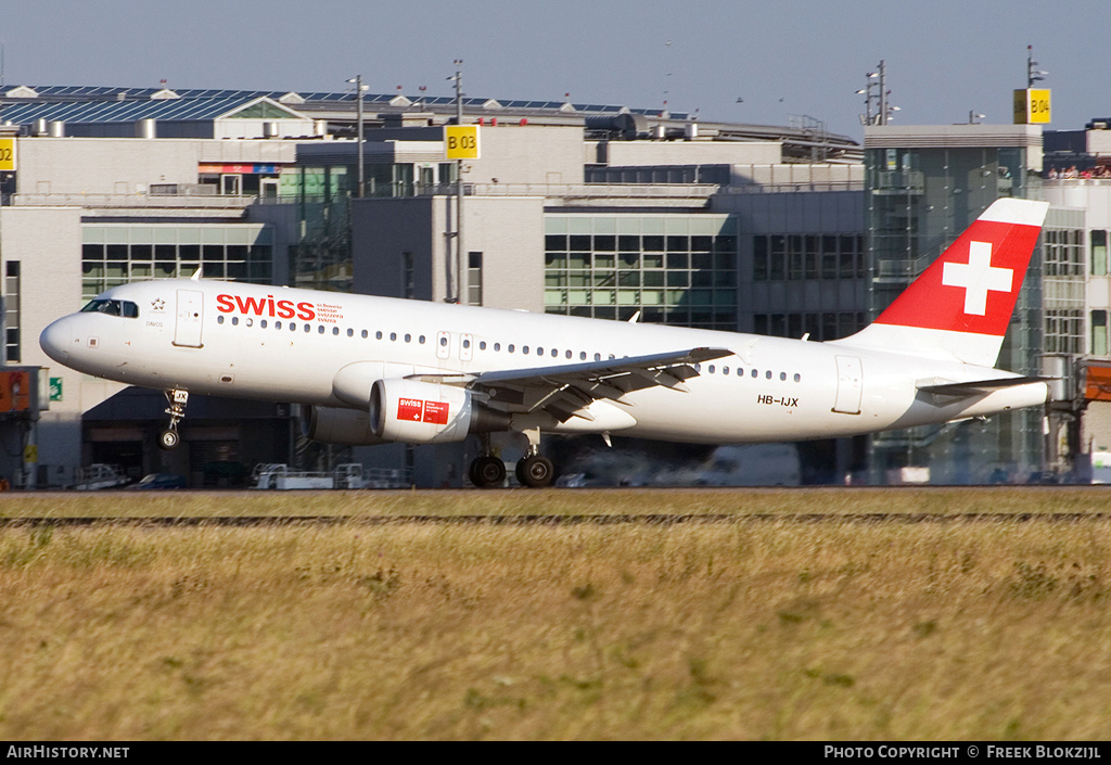
[[[191,403],[183,448],[163,453],[161,393],[52,366],[41,329],[128,280],[200,269],[827,340],[867,324],[1000,196],[1053,203],[1000,362],[1065,378],[1059,403],[988,426],[803,445],[803,477],[888,483],[929,468],[942,483],[1018,480],[1071,469],[1091,450],[1085,438],[1111,443],[1111,427],[1080,430],[1084,370],[1108,360],[1107,264],[1099,275],[1090,258],[1107,260],[1109,201],[1095,179],[1042,179],[1040,127],[869,127],[860,146],[810,119],[775,128],[466,99],[481,155],[459,166],[444,151],[450,99],[364,97],[362,146],[357,107],[353,93],[0,95],[0,140],[12,147],[0,166],[6,362],[48,368],[50,399],[21,426],[36,448],[10,459],[12,483],[64,485],[80,466],[113,463],[201,486],[234,465],[352,459],[307,443],[297,407],[219,398]],[[1047,438],[1043,416],[1065,435]],[[418,485],[458,485],[476,447],[368,447],[354,458],[404,467]]]

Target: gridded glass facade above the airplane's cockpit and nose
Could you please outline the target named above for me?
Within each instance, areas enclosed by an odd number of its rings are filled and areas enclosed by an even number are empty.
[[[87,223],[81,227],[81,295],[141,279],[190,277],[271,284],[273,231],[263,225]]]

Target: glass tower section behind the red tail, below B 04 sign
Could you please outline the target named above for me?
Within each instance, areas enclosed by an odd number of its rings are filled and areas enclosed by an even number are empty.
[[[1040,180],[1028,175],[1025,153],[1023,147],[865,148],[872,318],[995,199],[1037,196]],[[1048,229],[1044,238],[1049,238]],[[1063,235],[1062,249],[1053,254],[1054,274],[1072,272],[1075,252],[1071,247],[1071,235]],[[1040,248],[1034,251],[998,362],[1020,374],[1041,374],[1043,290],[1049,287],[1044,277],[1050,268],[1047,262],[1043,269],[1042,256]],[[1079,315],[1054,316],[1052,328],[1071,335],[1079,329],[1074,318]],[[937,484],[1024,480],[1041,468],[1042,416],[1041,409],[1031,407],[988,423],[875,435],[871,438],[869,479],[889,483],[899,468],[924,466],[930,468],[931,483]]]

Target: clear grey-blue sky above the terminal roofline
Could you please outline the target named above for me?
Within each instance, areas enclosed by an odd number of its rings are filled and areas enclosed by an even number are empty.
[[[885,63],[893,125],[1011,122],[1028,46],[1051,129],[1111,117],[1111,0],[0,0],[3,83],[563,100],[861,140]]]

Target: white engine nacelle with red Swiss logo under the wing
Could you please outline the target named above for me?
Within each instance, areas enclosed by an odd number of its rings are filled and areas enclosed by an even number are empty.
[[[398,378],[374,383],[369,414],[376,436],[407,444],[461,441],[510,425],[509,415],[476,401],[466,388]]]

